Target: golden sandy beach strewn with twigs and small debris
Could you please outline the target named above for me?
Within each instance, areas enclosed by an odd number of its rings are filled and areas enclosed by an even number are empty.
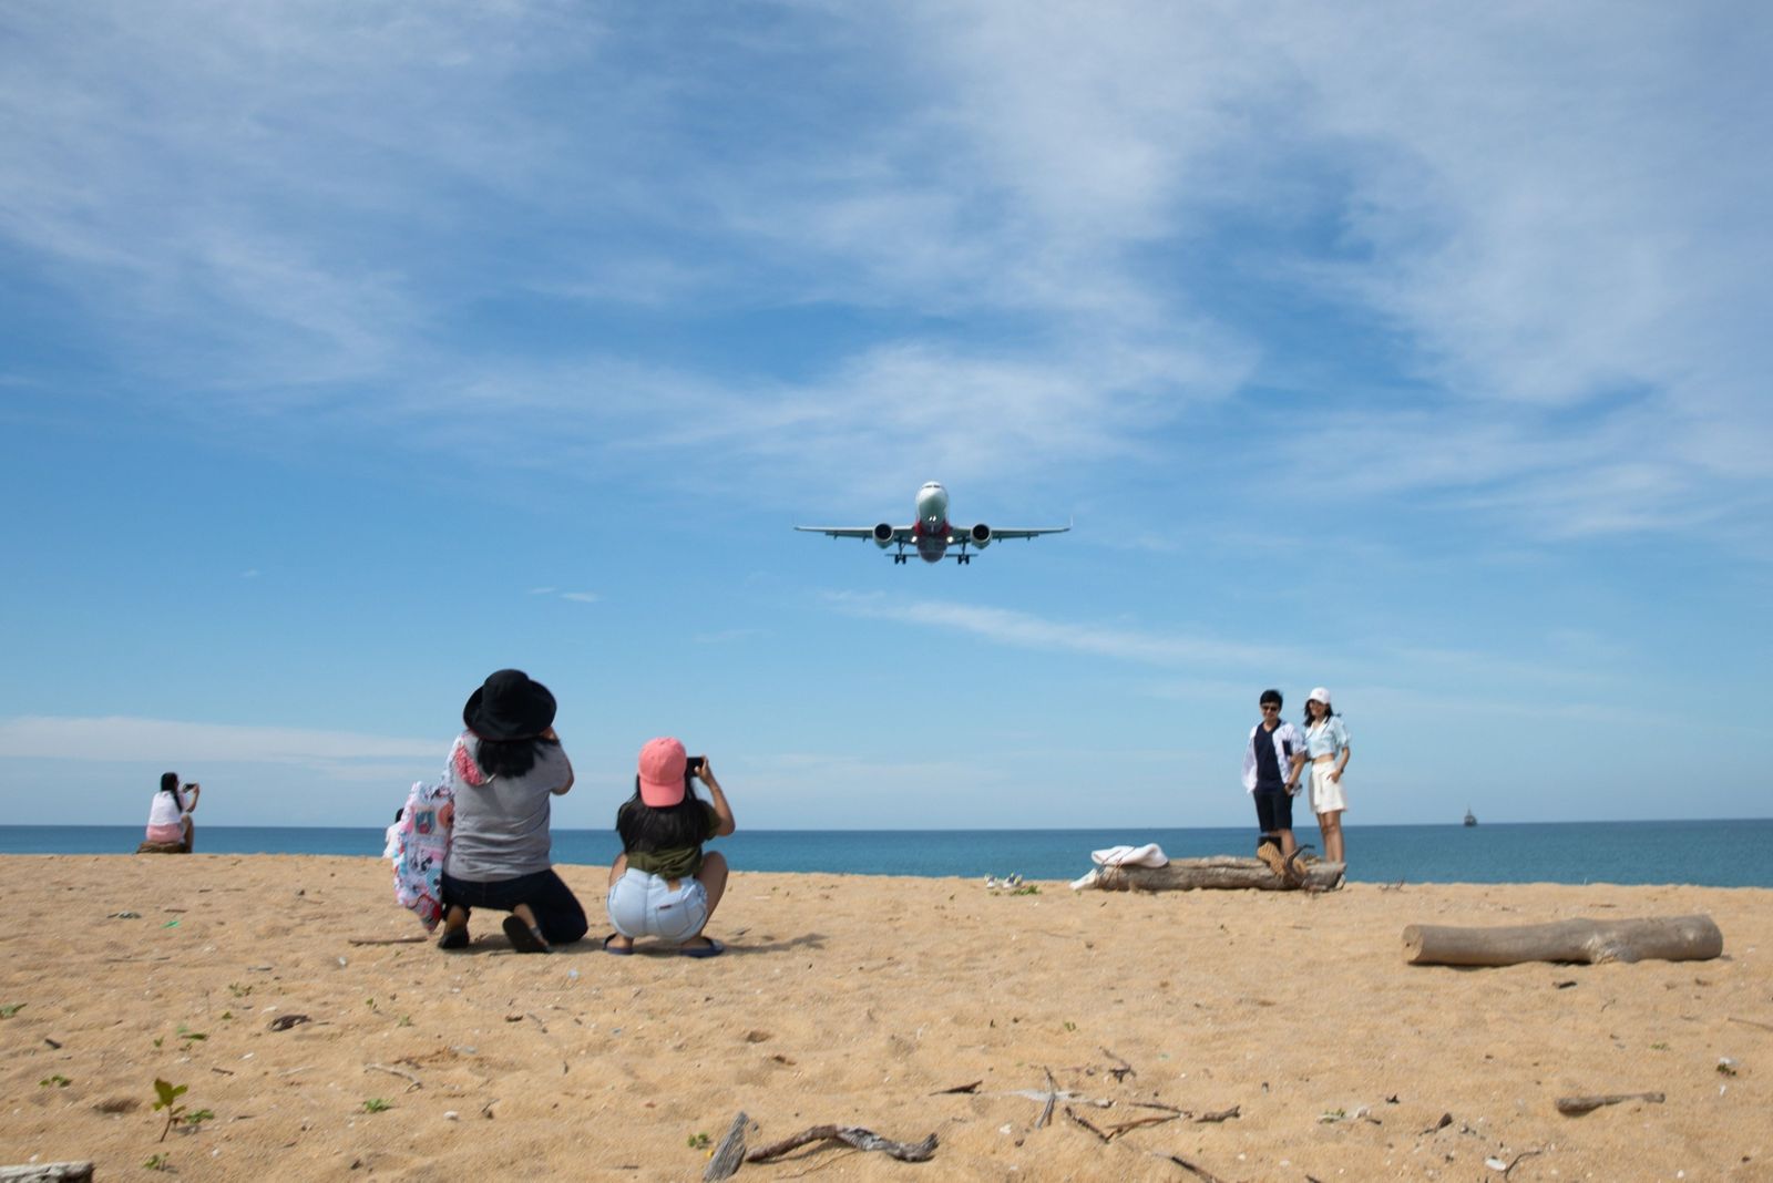
[[[606,932],[603,868],[560,871]],[[709,928],[729,951],[699,962],[519,956],[496,914],[441,953],[374,859],[12,855],[0,882],[0,1165],[691,1179],[743,1110],[752,1148],[849,1125],[936,1149],[819,1142],[741,1179],[1773,1179],[1764,889],[993,894],[741,866]],[[1693,912],[1722,958],[1402,960],[1411,923]],[[161,1140],[156,1079],[207,1116]],[[1617,1093],[1665,1100],[1555,1109]]]

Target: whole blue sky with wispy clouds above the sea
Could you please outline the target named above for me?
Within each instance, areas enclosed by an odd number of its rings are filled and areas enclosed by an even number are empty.
[[[379,825],[551,685],[750,827],[1766,816],[1759,4],[0,14],[0,793]],[[794,522],[1074,531],[894,567]],[[1358,841],[1358,839],[1353,839]]]

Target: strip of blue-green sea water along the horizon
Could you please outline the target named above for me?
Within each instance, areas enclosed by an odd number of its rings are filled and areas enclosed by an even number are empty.
[[[1296,831],[1316,841],[1316,827]],[[1390,884],[1697,884],[1773,887],[1773,818],[1704,822],[1535,822],[1344,825],[1349,878]],[[1019,873],[1071,880],[1090,852],[1121,843],[1163,847],[1172,859],[1252,854],[1254,831],[739,831],[716,839],[734,871],[833,871],[982,878]],[[0,854],[128,854],[138,825],[7,825]],[[200,854],[339,854],[379,857],[383,831],[199,825]],[[606,866],[610,831],[555,831],[553,859]]]

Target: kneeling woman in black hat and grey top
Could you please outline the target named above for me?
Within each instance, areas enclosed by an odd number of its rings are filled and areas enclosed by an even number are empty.
[[[521,669],[493,673],[463,707],[468,731],[450,753],[454,800],[438,811],[452,827],[440,949],[466,947],[473,909],[511,912],[504,926],[518,953],[551,953],[590,926],[548,857],[548,802],[573,788],[553,717],[553,694]]]

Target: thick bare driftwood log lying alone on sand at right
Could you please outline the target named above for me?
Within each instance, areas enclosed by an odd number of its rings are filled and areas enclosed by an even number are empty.
[[[1411,965],[1519,965],[1521,962],[1707,962],[1723,953],[1723,933],[1709,916],[1636,921],[1557,921],[1507,928],[1404,928]]]

